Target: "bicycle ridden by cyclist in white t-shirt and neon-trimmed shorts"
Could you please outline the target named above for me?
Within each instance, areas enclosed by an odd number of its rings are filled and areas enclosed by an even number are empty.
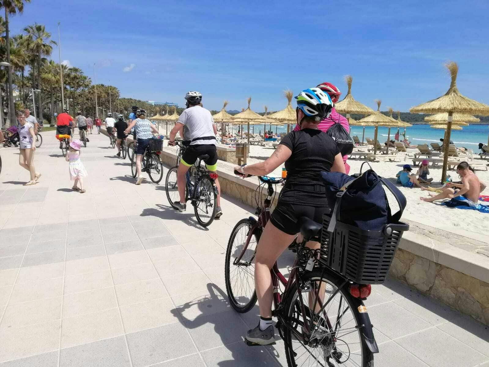
[[[174,209],[174,202],[180,200],[177,187],[177,171],[181,156],[186,149],[185,145],[177,142],[177,165],[168,170],[165,180],[165,191],[168,202]],[[215,180],[217,173],[209,172],[200,165],[200,162],[208,159],[209,156],[202,155],[192,165],[185,174],[185,202],[191,201],[194,206],[197,222],[202,227],[209,226],[216,215],[218,190]]]

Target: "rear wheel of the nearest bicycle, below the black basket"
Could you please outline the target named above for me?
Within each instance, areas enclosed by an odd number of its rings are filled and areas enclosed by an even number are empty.
[[[363,342],[359,327],[358,307],[363,304],[350,294],[349,283],[343,283],[343,279],[315,269],[302,276],[301,289],[297,283],[292,285],[282,313],[287,326],[283,325],[281,330],[289,367],[373,366],[374,355]],[[313,325],[311,331],[307,331],[305,324],[308,328]]]

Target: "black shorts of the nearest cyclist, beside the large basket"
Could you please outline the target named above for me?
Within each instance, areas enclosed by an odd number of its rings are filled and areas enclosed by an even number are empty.
[[[280,200],[270,216],[270,222],[282,232],[295,235],[301,231],[300,217],[323,223],[323,214],[330,211],[329,206],[307,206],[281,203]]]

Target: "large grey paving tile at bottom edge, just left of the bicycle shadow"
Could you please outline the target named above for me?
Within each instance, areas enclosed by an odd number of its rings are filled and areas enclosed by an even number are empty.
[[[179,323],[127,334],[127,342],[134,367],[153,365],[197,352],[185,328]]]

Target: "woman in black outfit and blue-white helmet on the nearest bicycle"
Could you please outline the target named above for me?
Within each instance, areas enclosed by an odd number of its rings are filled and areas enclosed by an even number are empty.
[[[319,122],[331,113],[331,98],[319,88],[306,89],[295,98],[297,123],[301,130],[283,138],[266,161],[235,167],[235,171],[244,177],[267,175],[284,162],[287,169],[286,185],[263,230],[255,257],[260,323],[246,334],[246,339],[255,344],[274,343],[271,267],[300,231],[299,218],[305,216],[321,223],[323,213],[328,210],[326,190],[319,172],[345,173],[343,159],[333,138],[317,128]],[[311,241],[307,245],[319,248],[318,242]]]

